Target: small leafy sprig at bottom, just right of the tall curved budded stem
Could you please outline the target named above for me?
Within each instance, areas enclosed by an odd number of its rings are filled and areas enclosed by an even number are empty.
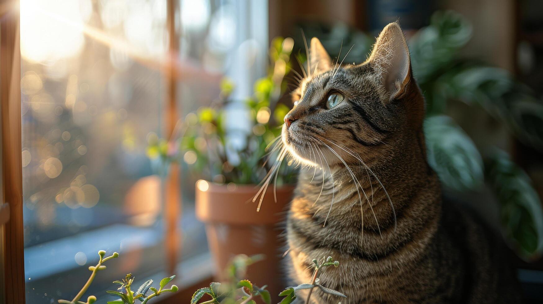
[[[179,288],[175,285],[172,285],[170,288],[166,288],[166,284],[168,284],[170,281],[173,280],[175,275],[171,277],[165,277],[160,281],[160,287],[159,289],[156,289],[155,287],[152,287],[151,284],[153,284],[153,280],[148,280],[147,282],[143,283],[137,290],[134,292],[131,290],[132,282],[134,282],[134,276],[132,274],[128,274],[125,278],[123,278],[122,281],[115,281],[113,283],[120,284],[121,287],[115,290],[108,290],[107,293],[117,295],[121,299],[115,300],[115,301],[108,301],[108,304],[134,304],[136,300],[140,300],[142,304],[146,304],[147,301],[150,299],[153,299],[155,296],[159,296],[162,293],[175,293],[179,290]],[[151,290],[153,292],[152,294],[147,295],[147,293]]]

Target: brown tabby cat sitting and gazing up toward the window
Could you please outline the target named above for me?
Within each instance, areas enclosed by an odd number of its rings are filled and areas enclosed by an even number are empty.
[[[311,40],[281,140],[301,170],[287,215],[293,283],[320,274],[313,303],[515,303],[502,244],[469,213],[443,204],[426,161],[425,103],[405,36],[390,23],[362,64],[334,64]],[[338,60],[339,61],[339,60]],[[305,301],[308,289],[298,292]]]

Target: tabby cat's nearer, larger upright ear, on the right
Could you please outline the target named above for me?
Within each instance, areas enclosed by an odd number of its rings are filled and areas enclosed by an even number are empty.
[[[409,83],[411,61],[405,36],[396,22],[384,27],[368,59],[390,98],[399,97]]]

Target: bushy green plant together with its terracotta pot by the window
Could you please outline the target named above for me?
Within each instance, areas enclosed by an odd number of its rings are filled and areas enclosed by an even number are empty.
[[[184,161],[191,176],[200,179],[196,215],[206,224],[219,280],[225,279],[222,269],[233,256],[264,254],[264,263],[251,265],[247,277],[268,284],[272,293],[283,286],[276,266],[282,253],[279,224],[294,189],[295,168],[280,149],[280,124],[289,109],[278,103],[286,91],[293,45],[291,38],[272,41],[269,73],[255,82],[252,96],[234,100],[234,84],[224,79],[218,100],[179,124],[179,145],[157,140],[148,150],[165,163]]]

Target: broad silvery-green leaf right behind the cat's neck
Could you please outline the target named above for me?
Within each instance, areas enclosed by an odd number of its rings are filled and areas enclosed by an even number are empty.
[[[428,164],[439,179],[457,191],[482,186],[483,160],[471,138],[445,115],[426,118]]]

